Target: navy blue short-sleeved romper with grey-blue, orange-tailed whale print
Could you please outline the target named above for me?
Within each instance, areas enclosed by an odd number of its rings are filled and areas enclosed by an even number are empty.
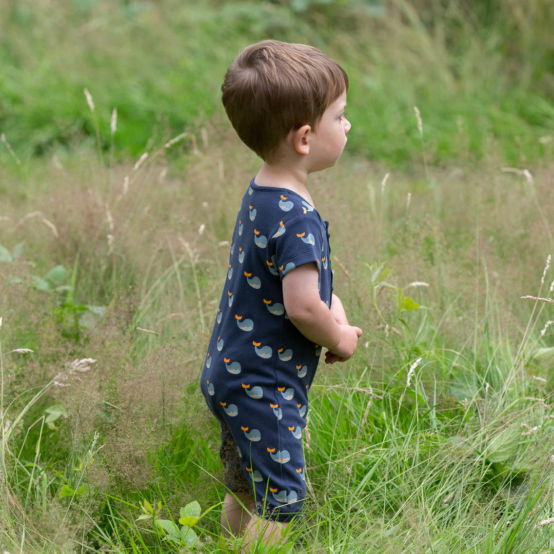
[[[306,494],[301,437],[321,346],[286,315],[281,279],[315,262],[330,306],[328,225],[298,194],[252,179],[201,377],[209,408],[232,434],[258,514],[283,522],[300,513]]]

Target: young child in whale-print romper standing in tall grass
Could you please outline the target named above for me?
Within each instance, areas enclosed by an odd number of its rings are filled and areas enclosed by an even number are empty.
[[[332,293],[329,223],[307,189],[346,145],[347,90],[320,50],[276,40],[240,52],[222,85],[229,120],[263,164],[239,209],[201,389],[221,428],[221,524],[253,539],[261,517],[269,543],[276,522],[302,510],[301,437],[321,348],[326,363],[346,361],[362,334]]]

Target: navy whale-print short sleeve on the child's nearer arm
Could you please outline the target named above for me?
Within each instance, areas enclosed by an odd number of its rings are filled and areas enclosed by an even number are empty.
[[[300,265],[316,263],[320,271],[324,251],[325,229],[314,212],[302,214],[279,223],[279,229],[271,237],[269,253],[282,279]]]

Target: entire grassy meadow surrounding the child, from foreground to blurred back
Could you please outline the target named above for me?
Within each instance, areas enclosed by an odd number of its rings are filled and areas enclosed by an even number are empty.
[[[2,7],[3,551],[238,552],[198,379],[259,166],[218,89],[272,36],[351,76],[310,191],[363,336],[269,552],[553,552],[551,4],[55,5]]]

